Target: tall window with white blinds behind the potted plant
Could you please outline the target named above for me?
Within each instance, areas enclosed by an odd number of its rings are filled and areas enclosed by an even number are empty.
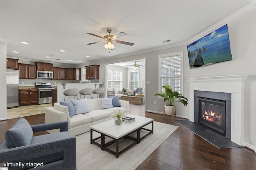
[[[172,90],[180,93],[181,87],[181,58],[182,53],[159,55],[159,90],[162,86],[170,85]]]

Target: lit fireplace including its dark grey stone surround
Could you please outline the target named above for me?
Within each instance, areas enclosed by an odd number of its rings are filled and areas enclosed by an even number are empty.
[[[231,94],[195,90],[194,122],[231,139]]]

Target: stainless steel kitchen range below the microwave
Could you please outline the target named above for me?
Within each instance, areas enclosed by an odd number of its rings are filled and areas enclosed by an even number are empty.
[[[38,104],[52,103],[52,87],[51,83],[36,83],[38,88]]]

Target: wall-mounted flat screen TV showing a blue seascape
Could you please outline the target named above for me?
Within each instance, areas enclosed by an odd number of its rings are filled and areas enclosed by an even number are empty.
[[[220,27],[187,47],[190,68],[232,60],[228,25]]]

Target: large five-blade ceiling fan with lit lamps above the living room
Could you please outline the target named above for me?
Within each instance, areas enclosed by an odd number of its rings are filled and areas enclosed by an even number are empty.
[[[112,30],[111,29],[108,29],[107,30],[108,32],[108,35],[105,35],[104,37],[100,36],[100,35],[95,35],[93,33],[87,33],[89,35],[93,35],[95,37],[99,37],[99,38],[102,38],[103,40],[102,41],[97,41],[97,42],[94,42],[94,43],[88,43],[87,45],[92,45],[92,44],[97,44],[97,43],[102,43],[102,42],[106,42],[106,44],[104,45],[104,47],[106,49],[110,49],[110,50],[113,50],[115,49],[115,46],[113,44],[113,42],[115,43],[120,43],[120,44],[125,44],[125,45],[133,45],[134,43],[129,43],[129,42],[125,42],[125,41],[119,41],[117,40],[118,38],[120,37],[123,37],[126,35],[126,33],[124,32],[120,32],[116,35],[110,35],[112,33]]]

